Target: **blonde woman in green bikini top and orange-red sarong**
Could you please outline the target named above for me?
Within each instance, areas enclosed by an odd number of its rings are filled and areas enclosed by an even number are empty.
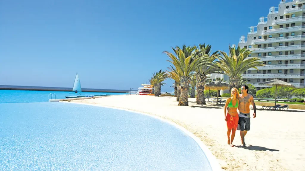
[[[231,98],[228,98],[226,101],[226,104],[224,106],[224,120],[227,121],[227,135],[228,135],[228,145],[233,147],[232,143],[235,137],[235,131],[237,129],[238,125],[238,113],[237,109],[239,108],[239,92],[236,88],[231,89]],[[227,113],[227,107],[228,107],[228,113]],[[231,141],[230,141],[230,134],[232,130],[231,135]]]

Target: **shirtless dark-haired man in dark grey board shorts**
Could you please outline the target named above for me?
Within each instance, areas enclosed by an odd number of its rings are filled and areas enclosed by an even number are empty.
[[[239,121],[237,130],[240,130],[240,137],[242,138],[242,146],[246,146],[245,136],[250,130],[250,104],[253,106],[253,118],[256,117],[256,106],[253,96],[248,94],[249,87],[242,85],[241,94],[239,95]]]

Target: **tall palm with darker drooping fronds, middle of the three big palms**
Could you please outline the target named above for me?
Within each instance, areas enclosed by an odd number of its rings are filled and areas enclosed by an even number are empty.
[[[197,81],[197,104],[206,104],[204,96],[204,85],[206,84],[207,75],[216,72],[217,66],[216,57],[219,51],[215,51],[211,54],[211,45],[199,44],[196,47],[195,55],[199,60],[199,65],[196,67],[196,81]]]

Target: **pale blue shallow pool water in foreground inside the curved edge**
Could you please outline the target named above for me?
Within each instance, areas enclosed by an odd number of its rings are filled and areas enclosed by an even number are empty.
[[[211,170],[192,138],[146,115],[59,102],[0,109],[0,170]]]

